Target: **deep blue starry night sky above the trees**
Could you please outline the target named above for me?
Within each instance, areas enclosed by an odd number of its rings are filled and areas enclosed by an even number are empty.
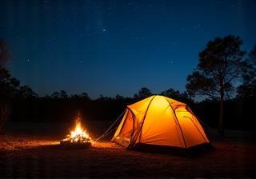
[[[256,44],[254,0],[1,0],[8,65],[40,96],[57,90],[114,97],[184,91],[206,42],[228,34]]]

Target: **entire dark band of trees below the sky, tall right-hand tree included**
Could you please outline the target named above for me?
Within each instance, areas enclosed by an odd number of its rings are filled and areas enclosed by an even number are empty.
[[[186,79],[186,91],[169,89],[159,94],[190,105],[202,121],[218,127],[219,133],[223,126],[253,129],[256,46],[248,54],[241,46],[242,39],[232,35],[208,42],[198,54],[198,66]],[[92,100],[87,93],[70,96],[64,90],[38,97],[29,86],[20,86],[18,79],[11,77],[6,70],[10,58],[6,42],[0,40],[0,130],[7,119],[70,121],[78,111],[86,120],[114,121],[126,105],[152,95],[143,87],[134,97],[100,96]]]

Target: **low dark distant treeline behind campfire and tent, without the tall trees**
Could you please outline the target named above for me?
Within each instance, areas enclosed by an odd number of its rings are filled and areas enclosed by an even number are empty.
[[[166,93],[167,91],[167,93]],[[186,102],[196,115],[210,127],[218,127],[219,102],[204,100],[195,102],[186,93],[177,90],[166,90],[162,93],[166,97]],[[60,92],[61,93],[61,92]],[[65,96],[51,95],[46,97],[30,96],[14,98],[11,102],[10,121],[31,122],[70,122],[80,112],[85,120],[110,120],[114,121],[126,105],[133,104],[142,98],[152,95],[149,89],[142,88],[134,97],[98,97],[90,99],[85,93],[81,95]],[[235,97],[225,101],[225,128],[228,129],[254,129],[253,120],[254,101],[256,97]]]

